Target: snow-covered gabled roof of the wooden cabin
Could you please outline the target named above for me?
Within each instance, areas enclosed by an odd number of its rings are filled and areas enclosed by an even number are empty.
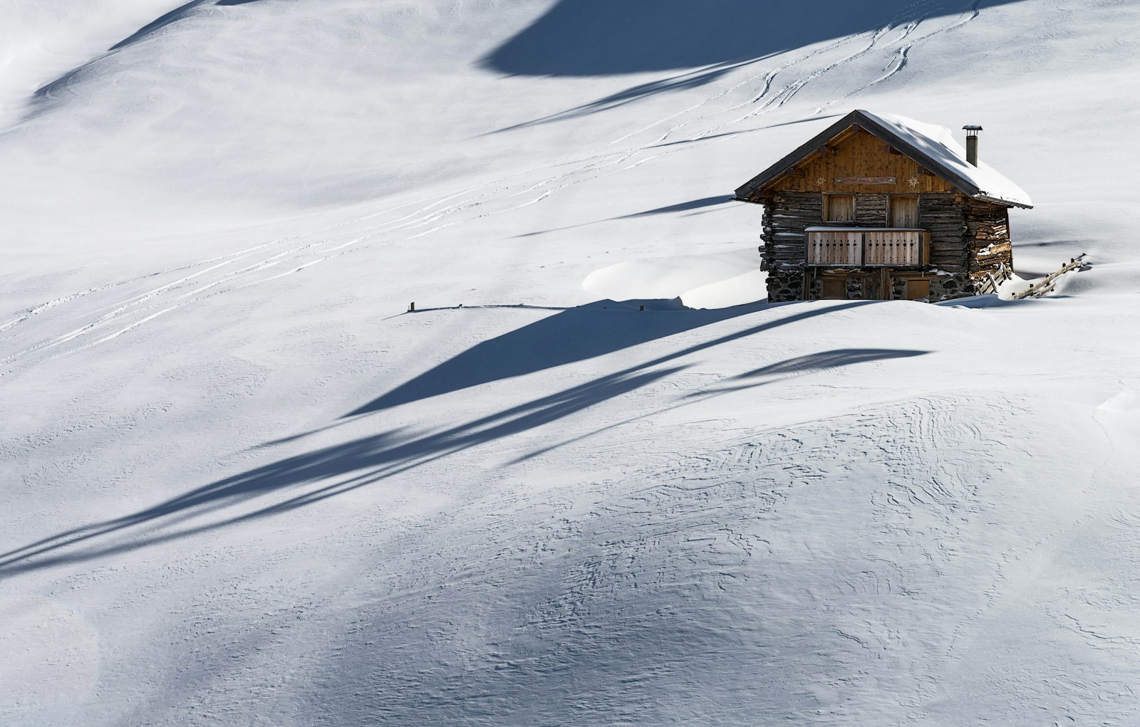
[[[977,166],[967,162],[966,149],[954,140],[950,129],[914,121],[906,116],[872,114],[863,109],[847,114],[811,141],[766,169],[738,189],[736,197],[748,199],[768,182],[788,171],[789,168],[855,125],[887,141],[971,197],[1013,207],[1033,207],[1029,195],[1001,172],[985,162]]]

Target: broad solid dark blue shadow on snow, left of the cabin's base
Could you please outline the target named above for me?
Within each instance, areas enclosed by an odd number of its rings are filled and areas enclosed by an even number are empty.
[[[646,310],[638,311],[638,304],[644,304]],[[598,301],[569,308],[478,343],[344,416],[382,411],[480,384],[584,361],[758,309],[758,305],[719,310],[677,309],[673,301],[633,304]]]

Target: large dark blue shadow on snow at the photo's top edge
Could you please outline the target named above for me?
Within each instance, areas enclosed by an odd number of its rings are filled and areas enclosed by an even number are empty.
[[[500,73],[592,76],[740,63],[1023,0],[561,0],[480,60]]]

